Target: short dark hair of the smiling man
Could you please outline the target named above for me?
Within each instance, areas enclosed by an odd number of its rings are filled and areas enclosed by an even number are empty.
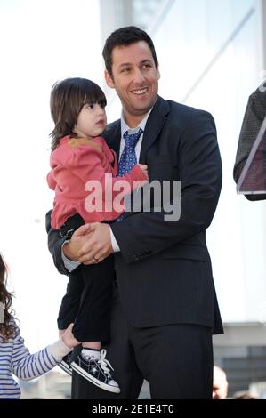
[[[152,57],[154,59],[156,68],[158,65],[157,55],[155,52],[154,44],[149,37],[149,35],[142,29],[136,28],[135,26],[127,26],[125,28],[119,28],[111,33],[107,38],[104,45],[102,56],[105,62],[105,68],[109,72],[110,76],[112,74],[112,52],[116,46],[125,46],[130,44],[135,44],[136,42],[145,41],[149,45]]]

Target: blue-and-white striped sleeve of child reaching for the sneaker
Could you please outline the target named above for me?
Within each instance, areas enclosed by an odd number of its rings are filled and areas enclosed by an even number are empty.
[[[49,372],[71,349],[62,341],[54,342],[43,350],[30,354],[20,333],[14,338],[12,373],[20,380],[29,381]]]

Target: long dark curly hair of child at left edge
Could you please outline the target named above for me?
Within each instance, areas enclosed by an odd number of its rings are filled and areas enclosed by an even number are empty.
[[[16,334],[16,325],[12,316],[12,293],[6,289],[7,269],[0,254],[0,309],[4,309],[4,323],[0,322],[0,335],[4,341]],[[0,310],[0,318],[2,311]]]

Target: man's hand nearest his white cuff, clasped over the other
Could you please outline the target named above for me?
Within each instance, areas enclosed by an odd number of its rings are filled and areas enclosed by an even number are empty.
[[[85,228],[86,226],[87,225],[80,229]],[[90,229],[84,230],[85,241],[79,251],[78,261],[83,262],[86,265],[97,264],[114,252],[111,244],[110,227],[108,224],[95,222],[90,224]]]

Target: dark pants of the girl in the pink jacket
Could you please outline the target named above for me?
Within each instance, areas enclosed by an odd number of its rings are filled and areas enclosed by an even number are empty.
[[[74,215],[61,227],[64,237],[85,222]],[[115,279],[113,255],[98,264],[80,265],[69,275],[67,293],[63,297],[58,317],[60,330],[74,322],[73,334],[80,342],[109,341],[110,304]]]

